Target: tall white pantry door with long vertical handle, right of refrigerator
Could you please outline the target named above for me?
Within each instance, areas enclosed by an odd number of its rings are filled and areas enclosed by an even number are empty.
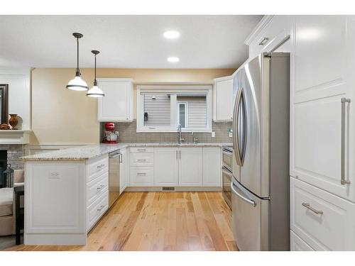
[[[354,37],[352,16],[295,16],[290,57],[290,175],[351,201],[355,201]],[[351,102],[342,104],[343,98]],[[350,184],[341,183],[342,165]]]

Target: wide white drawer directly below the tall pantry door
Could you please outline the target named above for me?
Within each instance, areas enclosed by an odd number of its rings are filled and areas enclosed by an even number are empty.
[[[315,250],[355,250],[355,204],[291,178],[291,229]]]

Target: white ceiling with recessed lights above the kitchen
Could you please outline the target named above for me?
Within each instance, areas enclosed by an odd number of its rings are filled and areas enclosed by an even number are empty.
[[[0,66],[229,68],[248,57],[244,40],[262,16],[0,16]],[[177,40],[164,31],[181,33]],[[169,63],[168,56],[180,57]]]

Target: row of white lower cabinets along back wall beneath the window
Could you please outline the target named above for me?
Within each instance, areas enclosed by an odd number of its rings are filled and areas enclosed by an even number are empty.
[[[131,187],[221,187],[219,147],[131,147]]]

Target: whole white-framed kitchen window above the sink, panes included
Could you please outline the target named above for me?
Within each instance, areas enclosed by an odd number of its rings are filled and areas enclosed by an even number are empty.
[[[211,132],[211,86],[138,86],[137,132]]]

